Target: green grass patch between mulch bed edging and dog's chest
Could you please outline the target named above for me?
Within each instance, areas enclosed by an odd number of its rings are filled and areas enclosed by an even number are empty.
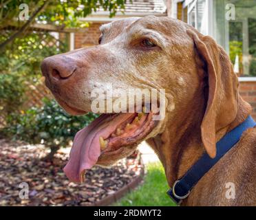
[[[160,162],[147,165],[142,185],[113,204],[113,206],[175,206],[167,195],[169,186]]]

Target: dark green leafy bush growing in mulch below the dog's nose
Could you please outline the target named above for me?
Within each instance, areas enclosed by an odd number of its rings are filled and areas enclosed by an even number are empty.
[[[15,140],[24,140],[32,144],[43,143],[50,147],[47,159],[52,159],[60,147],[69,145],[76,132],[92,122],[98,115],[68,115],[55,100],[43,100],[41,108],[32,107],[20,114],[8,115],[6,135]]]

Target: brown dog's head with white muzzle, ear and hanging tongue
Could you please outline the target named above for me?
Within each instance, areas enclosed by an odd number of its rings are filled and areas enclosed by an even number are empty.
[[[205,113],[198,123],[206,151],[214,157],[215,131],[231,123],[237,111],[237,78],[224,50],[168,17],[122,19],[102,25],[100,31],[99,45],[43,61],[45,84],[61,107],[73,115],[92,111],[95,89],[107,85],[113,90],[165,89],[167,115],[160,121],[152,120],[152,112],[100,115],[76,135],[65,167],[68,177],[81,180],[85,169],[129,155],[139,142],[164,131],[167,121],[175,126],[175,117],[189,111],[196,94],[206,96],[199,103]]]

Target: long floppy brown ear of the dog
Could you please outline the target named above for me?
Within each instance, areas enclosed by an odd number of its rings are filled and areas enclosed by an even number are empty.
[[[228,54],[210,36],[193,30],[187,30],[187,34],[193,39],[195,50],[205,63],[208,102],[201,124],[201,137],[206,152],[213,158],[218,141],[215,133],[231,124],[237,115],[238,80]]]

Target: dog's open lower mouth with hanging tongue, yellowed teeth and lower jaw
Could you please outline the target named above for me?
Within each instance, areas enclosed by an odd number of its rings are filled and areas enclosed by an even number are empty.
[[[155,126],[152,113],[102,114],[76,133],[64,172],[70,181],[83,182],[101,153],[138,143]]]

